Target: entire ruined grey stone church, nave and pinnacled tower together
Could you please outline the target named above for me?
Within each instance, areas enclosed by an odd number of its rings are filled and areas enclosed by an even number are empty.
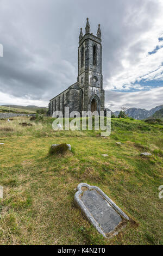
[[[85,35],[82,28],[79,35],[77,82],[50,100],[48,112],[52,116],[54,111],[62,111],[64,115],[65,107],[80,114],[82,111],[99,112],[104,111],[104,101],[101,28],[98,25],[97,36],[90,33],[87,18]]]

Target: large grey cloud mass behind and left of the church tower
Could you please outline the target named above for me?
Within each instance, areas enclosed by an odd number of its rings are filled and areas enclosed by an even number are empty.
[[[105,86],[123,70],[125,49],[151,28],[158,7],[154,0],[1,0],[0,91],[48,101],[76,82],[79,29],[85,31],[86,17],[93,34],[101,23]],[[130,61],[137,62],[142,45],[132,47]]]

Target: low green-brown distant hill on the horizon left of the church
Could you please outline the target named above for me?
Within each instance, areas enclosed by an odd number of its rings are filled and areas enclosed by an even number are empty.
[[[18,106],[18,105],[2,105],[0,106],[0,111],[1,111],[1,107],[5,107],[7,108],[7,112],[9,111],[9,107],[10,107],[10,111],[11,111],[11,108],[16,108],[14,109],[14,111],[17,111],[17,112],[12,112],[12,113],[22,113],[22,112],[26,112],[26,113],[36,113],[36,110],[37,109],[46,109],[48,111],[48,108],[47,107],[37,107],[37,106],[34,106],[34,105],[29,105],[29,106]]]

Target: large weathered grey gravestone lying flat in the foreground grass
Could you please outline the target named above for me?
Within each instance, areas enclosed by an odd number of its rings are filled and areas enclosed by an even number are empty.
[[[129,217],[99,187],[80,183],[77,189],[74,202],[100,234],[110,237],[126,227]]]

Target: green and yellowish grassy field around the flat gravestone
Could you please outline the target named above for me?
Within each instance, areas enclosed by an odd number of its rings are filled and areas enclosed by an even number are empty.
[[[0,120],[1,245],[163,245],[163,125],[112,119],[111,135],[102,138],[99,131],[55,132],[52,118],[23,121]],[[55,143],[70,143],[72,153],[49,155]],[[126,212],[126,229],[110,240],[97,233],[73,203],[80,182],[99,186]]]

